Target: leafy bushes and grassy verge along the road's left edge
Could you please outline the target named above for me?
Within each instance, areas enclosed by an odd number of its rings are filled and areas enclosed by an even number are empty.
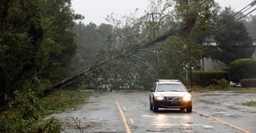
[[[41,99],[35,97],[31,90],[27,93],[16,91],[14,95],[14,99],[9,99],[8,111],[0,113],[0,133],[60,132],[58,120],[53,117],[43,119],[54,113],[73,110],[89,97],[74,90],[57,90]]]

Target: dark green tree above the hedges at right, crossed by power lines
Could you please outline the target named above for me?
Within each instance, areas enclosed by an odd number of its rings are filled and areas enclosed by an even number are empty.
[[[234,10],[226,7],[220,13],[218,23],[228,20],[234,14]],[[236,19],[231,22],[233,22],[232,25],[215,34],[217,47],[210,49],[212,59],[223,61],[228,66],[235,60],[250,58],[254,52],[253,39],[249,36],[245,24],[242,21],[236,21]]]

